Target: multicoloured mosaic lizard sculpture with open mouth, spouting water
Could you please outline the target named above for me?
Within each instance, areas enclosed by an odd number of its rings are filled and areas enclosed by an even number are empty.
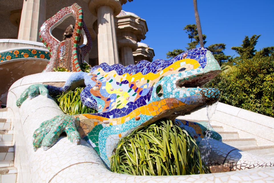
[[[89,142],[109,166],[119,139],[132,130],[161,118],[175,119],[216,102],[219,90],[200,88],[219,73],[220,66],[206,48],[188,50],[174,59],[140,61],[124,67],[102,63],[90,73],[73,73],[63,87],[35,84],[17,100],[21,106],[37,94],[57,95],[85,84],[81,101],[98,113],[59,115],[34,132],[34,149],[46,150],[62,132],[68,139]],[[199,138],[203,138],[201,132]]]

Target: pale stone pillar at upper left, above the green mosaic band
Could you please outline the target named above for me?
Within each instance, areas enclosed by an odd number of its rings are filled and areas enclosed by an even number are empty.
[[[40,41],[38,32],[46,21],[46,3],[46,0],[24,1],[18,39]]]

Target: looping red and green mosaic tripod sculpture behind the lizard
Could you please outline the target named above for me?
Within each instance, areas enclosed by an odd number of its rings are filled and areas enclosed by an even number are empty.
[[[69,16],[76,18],[75,26],[73,28],[70,25],[67,28],[63,41],[60,42],[52,35],[52,30]],[[54,71],[53,68],[57,67],[64,67],[74,72],[81,71],[80,63],[84,61],[92,45],[91,36],[84,23],[83,16],[82,8],[77,3],[74,3],[72,6],[61,9],[43,23],[39,31],[39,37],[51,54],[51,59],[44,72]],[[81,34],[84,42],[79,46]]]

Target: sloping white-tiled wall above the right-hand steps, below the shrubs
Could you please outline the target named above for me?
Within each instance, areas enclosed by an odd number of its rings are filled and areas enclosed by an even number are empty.
[[[177,119],[208,121],[206,114],[203,108]],[[223,126],[226,131],[237,131],[239,138],[255,138],[260,145],[274,145],[274,118],[219,102],[210,123]]]

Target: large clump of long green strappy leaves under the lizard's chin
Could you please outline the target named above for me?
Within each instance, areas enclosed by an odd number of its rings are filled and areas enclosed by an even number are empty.
[[[196,141],[171,120],[157,121],[122,138],[110,168],[112,172],[130,175],[210,173]]]

